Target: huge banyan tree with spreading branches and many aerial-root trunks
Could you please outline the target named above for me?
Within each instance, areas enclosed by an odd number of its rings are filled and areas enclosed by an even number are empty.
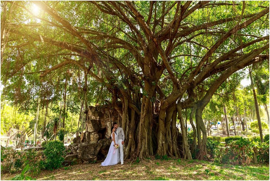
[[[269,61],[268,1],[2,1],[1,8],[3,95],[21,109],[37,97],[45,106],[63,97],[63,111],[69,102],[82,113],[90,103],[109,104],[129,160],[192,159],[194,151],[204,159],[204,107],[230,75]],[[76,93],[69,100],[67,87]],[[188,144],[187,119],[197,149]]]

